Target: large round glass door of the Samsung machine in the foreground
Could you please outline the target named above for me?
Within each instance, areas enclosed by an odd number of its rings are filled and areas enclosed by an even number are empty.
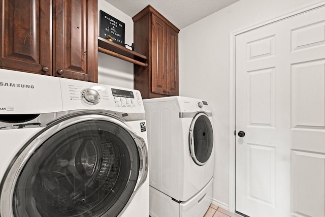
[[[144,140],[124,122],[71,115],[21,150],[3,182],[1,215],[117,216],[146,176]]]

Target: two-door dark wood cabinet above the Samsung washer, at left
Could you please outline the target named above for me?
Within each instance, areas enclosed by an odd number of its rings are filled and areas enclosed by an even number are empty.
[[[96,0],[0,0],[0,67],[97,82]]]

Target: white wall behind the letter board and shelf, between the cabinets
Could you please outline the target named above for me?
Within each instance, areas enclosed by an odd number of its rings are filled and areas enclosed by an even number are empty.
[[[98,0],[98,17],[100,17],[100,10],[125,23],[125,44],[131,45],[133,43],[132,17],[127,16],[111,4],[105,2],[105,0]],[[99,25],[100,21],[98,20],[98,35],[100,35]],[[133,89],[133,64],[99,52],[98,83]]]

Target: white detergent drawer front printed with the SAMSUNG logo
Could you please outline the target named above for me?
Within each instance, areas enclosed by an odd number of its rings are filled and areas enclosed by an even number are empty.
[[[0,69],[0,114],[35,114],[62,110],[57,77]]]

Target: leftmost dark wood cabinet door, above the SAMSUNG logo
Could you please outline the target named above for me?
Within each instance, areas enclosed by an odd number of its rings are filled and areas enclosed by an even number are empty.
[[[0,0],[0,67],[52,74],[52,1]]]

